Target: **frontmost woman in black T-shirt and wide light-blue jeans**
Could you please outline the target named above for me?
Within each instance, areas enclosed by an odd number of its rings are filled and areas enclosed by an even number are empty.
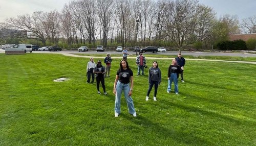
[[[131,84],[130,84],[131,83]],[[131,85],[131,87],[130,87]],[[124,93],[129,113],[136,117],[136,111],[133,104],[132,93],[133,93],[133,71],[129,68],[126,60],[121,60],[120,68],[116,73],[116,80],[114,83],[113,93],[116,95],[115,100],[115,117],[121,113],[121,95]]]

